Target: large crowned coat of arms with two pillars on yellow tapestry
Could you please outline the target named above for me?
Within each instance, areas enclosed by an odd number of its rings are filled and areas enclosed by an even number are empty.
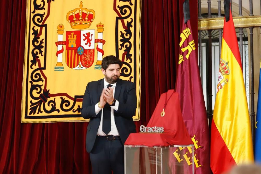
[[[69,11],[66,15],[66,20],[70,23],[72,29],[79,29],[76,31],[66,31],[66,41],[63,41],[64,26],[59,24],[57,27],[58,41],[57,46],[57,63],[55,71],[64,70],[64,62],[62,53],[64,52],[63,45],[65,45],[65,63],[69,68],[80,70],[90,68],[94,63],[95,47],[96,46],[97,61],[94,69],[101,69],[102,57],[104,55],[103,40],[104,24],[101,22],[96,25],[98,38],[95,39],[95,29],[89,28],[95,18],[95,11],[83,8],[82,1],[80,7]],[[85,29],[85,30],[83,30]]]

